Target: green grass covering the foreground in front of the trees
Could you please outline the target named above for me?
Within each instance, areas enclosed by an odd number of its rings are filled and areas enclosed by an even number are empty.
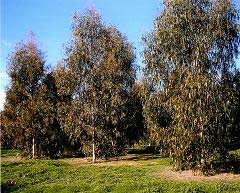
[[[176,181],[156,175],[169,166],[170,159],[152,155],[133,155],[126,160],[101,161],[95,165],[83,158],[15,162],[2,159],[1,189],[22,193],[240,192],[240,181]]]

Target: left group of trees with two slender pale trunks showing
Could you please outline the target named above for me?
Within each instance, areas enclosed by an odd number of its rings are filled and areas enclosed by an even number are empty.
[[[94,10],[74,15],[72,40],[54,70],[33,37],[20,43],[8,60],[2,145],[32,157],[118,155],[143,135],[134,58],[132,45]]]

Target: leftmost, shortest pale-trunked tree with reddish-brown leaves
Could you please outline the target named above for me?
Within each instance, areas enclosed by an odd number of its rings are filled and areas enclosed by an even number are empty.
[[[7,90],[5,115],[6,126],[14,133],[16,145],[29,151],[35,157],[38,132],[38,93],[45,72],[45,60],[37,47],[34,36],[19,43],[8,59],[10,88]],[[10,132],[10,131],[9,131]]]

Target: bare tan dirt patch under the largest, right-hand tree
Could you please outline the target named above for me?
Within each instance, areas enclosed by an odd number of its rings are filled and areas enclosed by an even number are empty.
[[[192,170],[173,171],[171,167],[166,167],[154,175],[173,181],[240,181],[240,174],[221,173],[214,176],[204,176],[196,174]]]

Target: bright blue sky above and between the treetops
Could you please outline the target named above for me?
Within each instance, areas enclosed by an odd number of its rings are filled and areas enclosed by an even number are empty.
[[[75,11],[94,6],[106,24],[119,28],[136,48],[141,63],[141,37],[149,32],[162,8],[161,0],[0,0],[0,110],[9,80],[6,58],[29,31],[36,35],[47,64],[54,66],[64,55],[64,44],[71,38],[71,17]],[[235,0],[240,7],[240,0]],[[240,61],[237,63],[240,64]]]

